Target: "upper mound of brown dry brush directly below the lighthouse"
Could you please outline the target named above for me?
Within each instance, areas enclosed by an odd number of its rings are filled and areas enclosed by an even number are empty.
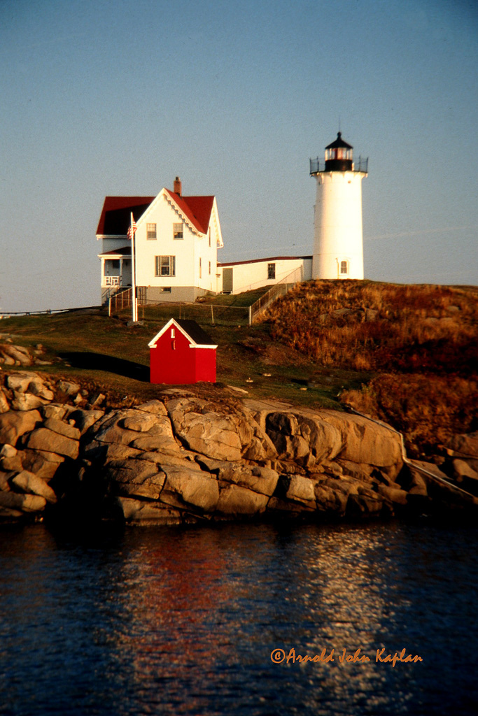
[[[477,361],[478,293],[463,289],[310,281],[264,318],[274,339],[324,367],[461,372]]]

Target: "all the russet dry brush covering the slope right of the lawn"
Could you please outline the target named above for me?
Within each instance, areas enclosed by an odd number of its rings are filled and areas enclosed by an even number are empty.
[[[341,400],[391,423],[414,455],[476,430],[478,290],[312,281],[264,320],[274,339],[324,367],[368,372]]]

